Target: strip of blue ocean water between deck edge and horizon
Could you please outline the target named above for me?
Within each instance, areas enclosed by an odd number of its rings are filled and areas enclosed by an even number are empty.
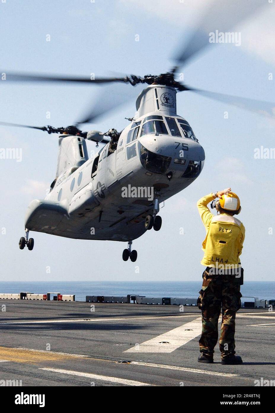
[[[86,295],[138,294],[147,297],[197,298],[201,282],[141,282],[141,281],[77,281],[77,282],[0,282],[0,293],[32,292],[47,294],[75,294],[76,301],[86,301]],[[243,297],[275,299],[275,281],[245,281],[241,286]]]

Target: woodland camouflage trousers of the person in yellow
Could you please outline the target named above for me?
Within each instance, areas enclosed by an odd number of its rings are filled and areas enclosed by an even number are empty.
[[[235,354],[235,317],[240,309],[242,294],[240,280],[235,275],[203,273],[203,287],[198,298],[202,312],[203,329],[199,340],[200,352],[212,355],[218,341],[218,322],[222,311],[219,349],[221,356]]]

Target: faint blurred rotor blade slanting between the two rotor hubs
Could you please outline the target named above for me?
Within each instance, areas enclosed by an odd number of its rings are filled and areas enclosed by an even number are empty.
[[[117,109],[124,103],[137,98],[144,85],[136,85],[128,88],[122,84],[113,84],[100,88],[98,95],[93,99],[89,110],[75,123],[76,126],[82,123],[92,123],[112,109]]]

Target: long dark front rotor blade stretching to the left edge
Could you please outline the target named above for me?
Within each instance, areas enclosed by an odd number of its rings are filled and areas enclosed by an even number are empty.
[[[5,71],[4,71],[5,72]],[[126,82],[126,78],[84,78],[84,77],[70,77],[70,76],[48,76],[39,74],[21,74],[14,72],[5,72],[7,81],[21,81],[21,82],[78,82],[78,83],[111,83],[111,82]]]

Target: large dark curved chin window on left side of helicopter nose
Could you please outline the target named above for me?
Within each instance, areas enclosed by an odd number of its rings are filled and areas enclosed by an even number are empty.
[[[167,171],[172,158],[155,154],[147,150],[140,142],[138,143],[138,148],[141,164],[147,171],[161,175]]]

